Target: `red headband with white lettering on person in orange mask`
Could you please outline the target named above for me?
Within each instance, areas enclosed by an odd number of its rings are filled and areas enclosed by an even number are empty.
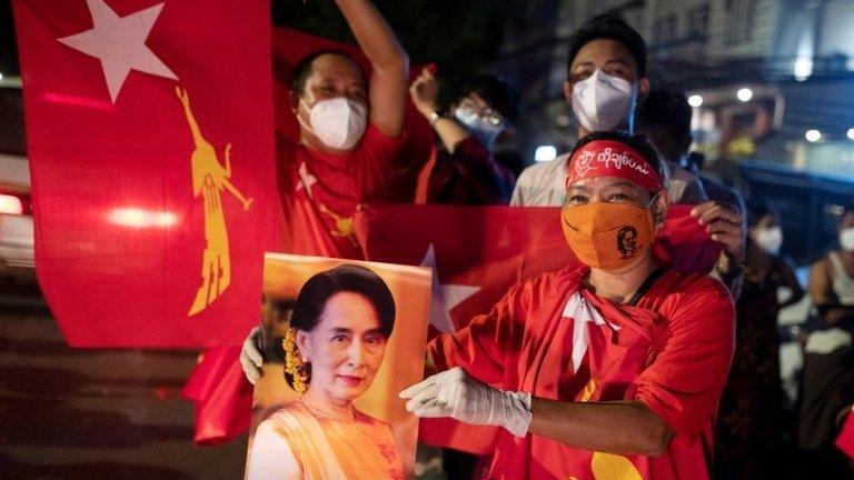
[[[566,186],[594,177],[619,177],[649,191],[662,189],[662,178],[635,149],[613,140],[594,140],[569,159]]]

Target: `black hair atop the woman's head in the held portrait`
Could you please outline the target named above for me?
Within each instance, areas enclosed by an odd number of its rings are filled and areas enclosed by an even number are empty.
[[[355,264],[342,264],[308,279],[299,291],[290,326],[311,331],[320,319],[326,302],[339,292],[364,296],[374,306],[379,329],[390,337],[395,327],[395,299],[383,278],[373,270]]]

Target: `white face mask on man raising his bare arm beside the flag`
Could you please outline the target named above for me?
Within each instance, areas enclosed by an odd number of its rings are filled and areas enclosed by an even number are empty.
[[[368,112],[363,104],[345,97],[319,100],[311,108],[302,99],[299,99],[299,102],[310,112],[310,126],[307,126],[299,114],[297,120],[329,148],[349,150],[365,134]]]

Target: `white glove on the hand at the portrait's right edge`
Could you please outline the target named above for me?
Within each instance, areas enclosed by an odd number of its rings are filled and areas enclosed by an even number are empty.
[[[525,437],[530,424],[530,393],[495,389],[459,367],[407,388],[400,397],[409,399],[407,410],[423,418],[504,427],[516,437]]]

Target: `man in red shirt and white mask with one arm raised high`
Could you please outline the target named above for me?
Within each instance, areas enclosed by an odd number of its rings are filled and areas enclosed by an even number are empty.
[[[389,200],[403,144],[408,59],[367,0],[338,7],[371,63],[322,50],[296,66],[289,106],[299,142],[279,144],[285,252],[360,258],[350,219],[359,203]]]

